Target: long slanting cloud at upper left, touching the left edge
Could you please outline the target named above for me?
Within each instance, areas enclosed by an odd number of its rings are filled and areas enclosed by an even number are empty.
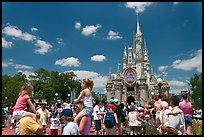
[[[36,39],[34,35],[31,35],[27,32],[22,32],[22,30],[20,30],[18,27],[12,26],[10,24],[3,29],[3,34],[20,38],[25,41],[33,41]]]

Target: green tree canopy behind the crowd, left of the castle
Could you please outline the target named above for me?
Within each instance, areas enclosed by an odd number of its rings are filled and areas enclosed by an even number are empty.
[[[59,73],[44,68],[35,71],[35,76],[26,77],[22,72],[16,73],[14,76],[2,76],[2,104],[15,103],[18,93],[24,83],[31,83],[34,87],[34,96],[44,96],[47,102],[58,98],[66,101],[71,91],[79,92],[81,90],[80,81],[76,80],[77,76],[73,72]]]

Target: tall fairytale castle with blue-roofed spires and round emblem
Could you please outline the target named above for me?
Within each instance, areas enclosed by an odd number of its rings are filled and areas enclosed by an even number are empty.
[[[143,46],[142,46],[143,45]],[[142,39],[142,32],[137,15],[136,35],[133,45],[124,47],[122,58],[122,72],[118,64],[117,72],[109,72],[106,83],[106,97],[117,98],[119,102],[131,103],[139,101],[144,105],[150,98],[158,94],[169,94],[169,84],[163,79],[156,78],[149,62],[146,41]]]

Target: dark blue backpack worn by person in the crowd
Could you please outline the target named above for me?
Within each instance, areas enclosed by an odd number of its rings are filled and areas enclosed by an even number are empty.
[[[107,112],[104,120],[104,125],[106,128],[112,128],[115,126],[115,118],[114,118],[114,113]]]

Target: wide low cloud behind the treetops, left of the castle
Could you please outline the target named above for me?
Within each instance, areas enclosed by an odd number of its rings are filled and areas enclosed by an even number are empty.
[[[82,80],[84,78],[89,78],[93,80],[94,82],[93,90],[94,91],[103,91],[105,88],[106,82],[108,81],[108,76],[101,76],[97,72],[93,72],[93,71],[70,70],[66,72],[74,72],[74,74],[77,75],[77,79],[79,80]]]

